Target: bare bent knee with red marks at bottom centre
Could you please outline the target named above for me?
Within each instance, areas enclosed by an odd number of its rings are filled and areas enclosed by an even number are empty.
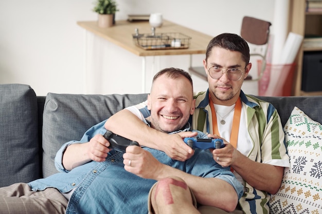
[[[158,181],[149,193],[149,214],[200,213],[188,185],[178,177]]]

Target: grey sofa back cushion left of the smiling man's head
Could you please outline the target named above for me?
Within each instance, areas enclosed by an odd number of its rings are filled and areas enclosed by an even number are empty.
[[[80,140],[85,131],[95,124],[146,99],[147,94],[48,93],[43,113],[43,176],[57,172],[53,160],[64,143]]]

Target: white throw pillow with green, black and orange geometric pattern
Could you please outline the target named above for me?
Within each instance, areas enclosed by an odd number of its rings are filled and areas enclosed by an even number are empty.
[[[291,167],[270,200],[271,213],[322,213],[322,126],[295,107],[284,133]]]

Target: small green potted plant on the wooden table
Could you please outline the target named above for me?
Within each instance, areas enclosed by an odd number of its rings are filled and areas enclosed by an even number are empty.
[[[118,8],[114,0],[97,0],[93,11],[98,13],[98,26],[106,28],[113,26]]]

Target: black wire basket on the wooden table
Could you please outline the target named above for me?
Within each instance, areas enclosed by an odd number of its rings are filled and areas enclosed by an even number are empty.
[[[133,42],[145,50],[189,48],[191,37],[182,33],[132,34]]]

